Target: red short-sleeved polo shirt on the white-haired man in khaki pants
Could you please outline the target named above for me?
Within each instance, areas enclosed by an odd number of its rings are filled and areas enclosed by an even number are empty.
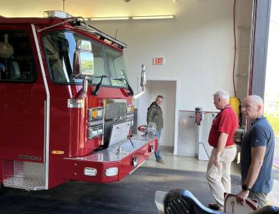
[[[232,137],[234,136],[234,130],[238,127],[238,119],[234,110],[229,105],[226,105],[212,122],[209,132],[209,145],[215,148],[218,146],[218,138],[221,132],[225,132],[228,135],[225,146],[234,145]]]

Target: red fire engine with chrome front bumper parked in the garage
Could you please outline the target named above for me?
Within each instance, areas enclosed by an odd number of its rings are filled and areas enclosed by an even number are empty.
[[[134,95],[124,43],[82,18],[0,17],[0,183],[47,190],[119,181],[157,149],[156,128],[131,135]]]

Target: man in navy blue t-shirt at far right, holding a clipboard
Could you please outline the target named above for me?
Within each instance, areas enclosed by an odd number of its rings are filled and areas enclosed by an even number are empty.
[[[257,199],[258,208],[266,206],[266,196],[273,186],[274,133],[262,116],[264,103],[257,95],[243,100],[243,116],[251,123],[241,142],[242,190],[237,194],[239,203],[247,197]]]

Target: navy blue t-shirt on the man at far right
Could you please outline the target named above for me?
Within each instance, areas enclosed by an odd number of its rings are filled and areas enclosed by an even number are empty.
[[[246,180],[248,170],[252,161],[251,148],[256,146],[266,146],[264,162],[259,171],[259,176],[252,186],[252,192],[269,193],[273,186],[273,153],[274,153],[274,133],[269,122],[260,116],[256,119],[246,132],[241,142],[241,178],[242,184]]]

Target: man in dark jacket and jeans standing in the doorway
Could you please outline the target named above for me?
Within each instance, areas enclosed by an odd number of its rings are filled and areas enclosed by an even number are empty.
[[[164,164],[164,160],[162,156],[160,155],[160,148],[159,148],[159,142],[160,142],[160,136],[161,131],[164,126],[164,120],[163,120],[163,112],[160,107],[163,103],[163,95],[158,95],[156,100],[151,103],[149,108],[147,109],[147,117],[146,121],[147,123],[156,123],[156,136],[158,137],[158,150],[155,153],[156,161],[160,164]]]

